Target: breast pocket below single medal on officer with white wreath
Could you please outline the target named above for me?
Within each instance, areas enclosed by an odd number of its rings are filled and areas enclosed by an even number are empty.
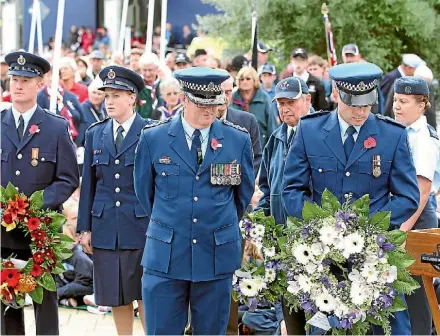
[[[372,160],[359,161],[358,164],[357,193],[359,196],[370,194],[370,198],[374,199],[375,195],[381,194],[384,188],[388,190],[391,161],[381,160],[380,174],[376,171],[376,176],[373,173]]]

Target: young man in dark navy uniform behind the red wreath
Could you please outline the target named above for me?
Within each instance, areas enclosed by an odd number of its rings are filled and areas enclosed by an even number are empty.
[[[10,53],[6,62],[13,105],[1,114],[2,186],[11,182],[27,196],[43,190],[43,208],[61,210],[79,185],[79,172],[68,122],[37,105],[43,75],[50,64],[27,52]],[[2,258],[15,254],[18,259],[28,260],[32,256],[31,241],[23,232],[6,232],[2,227],[1,235]],[[33,304],[37,335],[58,335],[57,293],[44,289],[42,304]],[[23,309],[5,312],[3,304],[1,308],[2,335],[24,335]]]

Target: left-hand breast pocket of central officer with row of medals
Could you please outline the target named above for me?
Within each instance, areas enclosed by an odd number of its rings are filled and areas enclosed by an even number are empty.
[[[154,169],[157,193],[166,199],[175,198],[179,193],[179,165],[155,162]]]

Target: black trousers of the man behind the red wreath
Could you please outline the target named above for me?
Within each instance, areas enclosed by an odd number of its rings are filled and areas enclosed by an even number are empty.
[[[2,258],[15,254],[17,259],[28,260],[30,250],[11,250],[2,248]],[[23,309],[13,309],[1,304],[2,335],[25,335]],[[34,302],[35,328],[37,335],[59,335],[57,292],[43,289],[43,302]]]

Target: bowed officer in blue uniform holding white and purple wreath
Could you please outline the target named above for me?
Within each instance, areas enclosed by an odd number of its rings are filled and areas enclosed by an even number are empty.
[[[334,66],[329,74],[337,109],[301,119],[284,170],[287,215],[301,218],[304,202],[321,204],[327,188],[341,203],[369,194],[371,213],[391,211],[391,228],[399,228],[417,210],[419,190],[405,126],[370,112],[382,70],[363,62]],[[393,335],[411,334],[407,310],[390,322]]]

